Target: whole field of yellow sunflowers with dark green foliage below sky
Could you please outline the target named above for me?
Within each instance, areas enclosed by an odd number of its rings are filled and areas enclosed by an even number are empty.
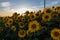
[[[0,17],[0,40],[60,40],[60,6]]]

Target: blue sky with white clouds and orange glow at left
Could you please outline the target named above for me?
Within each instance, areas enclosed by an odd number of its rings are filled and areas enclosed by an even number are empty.
[[[60,6],[60,0],[46,0],[46,7]],[[14,12],[44,9],[44,0],[0,0],[0,16],[11,16]]]

